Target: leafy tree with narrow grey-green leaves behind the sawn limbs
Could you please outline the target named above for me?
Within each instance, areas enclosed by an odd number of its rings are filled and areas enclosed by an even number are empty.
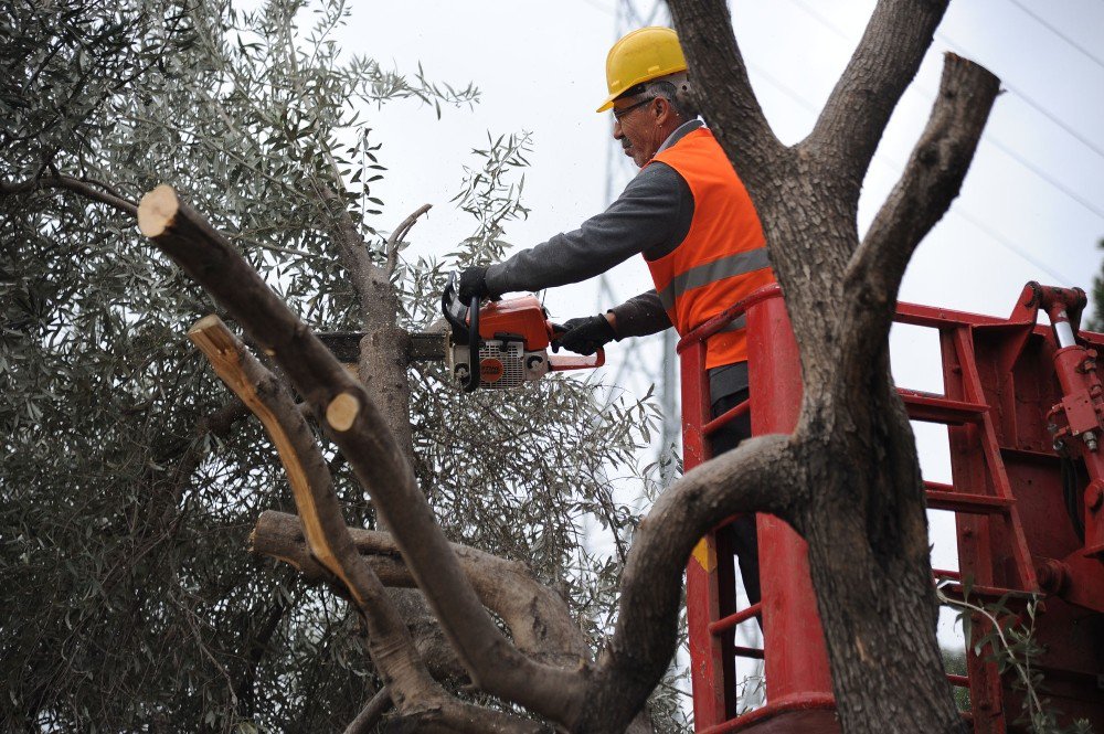
[[[135,226],[141,192],[172,180],[217,210],[312,328],[361,329],[364,304],[399,309],[401,321],[370,325],[381,349],[367,353],[384,358],[402,352],[402,336],[388,341],[400,322],[436,318],[444,273],[500,256],[526,213],[526,138],[474,155],[456,201],[475,217],[470,237],[440,262],[407,259],[399,228],[380,224],[372,188],[388,161],[371,110],[447,110],[477,93],[339,58],[327,39],[346,11],[317,9],[72,0],[0,18],[12,70],[0,94],[0,728],[323,731],[380,688],[344,600],[244,552],[262,511],[291,508],[286,479],[184,339],[210,300]],[[350,278],[358,266],[365,277]],[[388,298],[363,297],[373,287]],[[375,391],[399,412],[417,406],[395,424],[442,525],[512,562],[514,585],[535,578],[555,589],[550,603],[567,599],[567,642],[588,650],[608,629],[620,562],[581,547],[580,520],[627,543],[638,513],[614,500],[607,472],[635,471],[646,406],[604,407],[597,385],[575,380],[468,400],[416,364],[402,370],[407,396]],[[347,519],[374,528],[349,465],[323,455]],[[434,672],[456,672],[439,632],[421,618],[415,631]]]

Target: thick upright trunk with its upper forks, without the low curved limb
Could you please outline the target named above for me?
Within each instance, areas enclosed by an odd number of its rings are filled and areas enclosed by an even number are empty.
[[[861,246],[856,224],[870,158],[946,4],[879,2],[813,134],[783,150],[751,102],[735,41],[716,40],[731,29],[723,3],[671,3],[691,75],[704,88],[736,86],[701,104],[732,125],[719,137],[756,204],[800,348],[792,442],[802,501],[783,517],[809,544],[847,732],[963,727],[935,639],[923,482],[888,333],[905,265],[973,158],[997,93],[991,74],[947,58],[927,128]]]

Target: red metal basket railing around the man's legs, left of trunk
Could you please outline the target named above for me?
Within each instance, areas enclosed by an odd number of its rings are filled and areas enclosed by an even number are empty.
[[[724,419],[710,415],[705,374],[705,339],[733,319],[746,315],[752,433],[789,433],[802,402],[800,361],[782,292],[777,286],[761,289],[720,317],[687,334],[678,351],[682,357],[683,461],[687,470],[711,458],[709,428]],[[737,406],[742,412],[747,406]],[[707,426],[709,428],[707,428]],[[757,518],[760,565],[772,568],[761,578],[761,617],[767,643],[762,653],[766,679],[763,708],[737,716],[733,655],[758,657],[758,651],[732,647],[732,625],[722,617],[750,617],[722,608],[725,579],[714,534],[698,544],[687,565],[687,607],[692,659],[694,730],[750,732],[792,719],[803,732],[838,732],[828,656],[816,599],[809,581],[805,542],[785,522]],[[723,552],[723,551],[722,551]],[[730,566],[731,567],[731,566]],[[781,570],[781,571],[779,571]],[[731,573],[731,572],[730,572]],[[800,722],[798,722],[800,720]],[[794,730],[797,731],[797,730]]]

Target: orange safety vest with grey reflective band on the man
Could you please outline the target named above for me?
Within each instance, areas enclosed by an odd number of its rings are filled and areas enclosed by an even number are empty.
[[[693,219],[686,238],[659,259],[646,258],[660,302],[678,332],[686,336],[774,283],[774,272],[751,196],[712,132],[692,130],[652,160],[678,171],[693,193]],[[740,317],[709,338],[707,369],[747,361],[745,325]]]

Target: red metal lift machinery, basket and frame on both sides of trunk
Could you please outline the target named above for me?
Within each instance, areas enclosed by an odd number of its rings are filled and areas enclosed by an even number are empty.
[[[958,571],[935,571],[951,592],[972,579],[973,600],[1040,595],[1036,632],[1047,696],[1104,732],[1104,334],[1078,333],[1081,290],[1031,283],[1007,319],[900,304],[896,321],[938,331],[944,393],[902,390],[913,421],[947,426],[952,485],[925,482],[932,509],[955,513]],[[1037,325],[1044,311],[1051,325]],[[704,339],[746,313],[751,397],[709,413]],[[682,360],[686,468],[710,458],[707,437],[752,411],[754,434],[788,433],[800,403],[797,345],[777,286],[688,334]],[[710,533],[687,566],[696,730],[838,732],[827,652],[804,541],[784,522],[757,518],[763,600],[735,608],[732,552]],[[934,581],[934,579],[933,579]],[[734,645],[736,625],[760,617],[763,649]],[[985,650],[967,645],[964,716],[976,733],[1016,731],[1019,693]],[[766,702],[737,715],[735,658],[762,658]]]

